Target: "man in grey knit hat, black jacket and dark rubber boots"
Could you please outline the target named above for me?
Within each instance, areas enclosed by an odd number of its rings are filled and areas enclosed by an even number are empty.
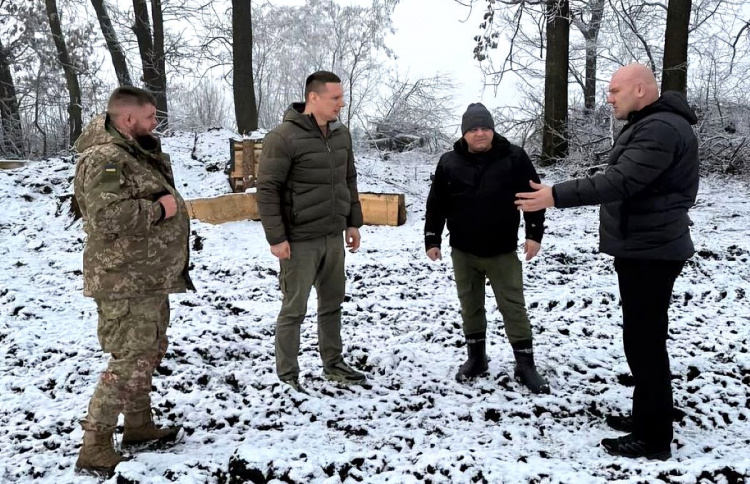
[[[482,104],[470,104],[461,122],[463,137],[438,163],[427,198],[425,249],[442,259],[440,244],[448,222],[468,360],[456,374],[464,381],[487,371],[487,319],[484,287],[489,279],[516,358],[515,375],[533,393],[549,393],[536,371],[532,335],[523,298],[521,262],[516,255],[520,216],[514,194],[539,181],[522,148],[495,133],[495,122]],[[526,260],[541,247],[544,211],[524,214]]]

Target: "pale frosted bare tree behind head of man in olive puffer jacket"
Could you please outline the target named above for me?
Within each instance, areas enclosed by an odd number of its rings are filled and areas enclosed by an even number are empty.
[[[341,77],[350,123],[377,98],[382,58],[391,30],[395,0],[373,0],[369,7],[342,7],[333,0],[307,0],[299,7],[253,3],[252,67],[258,125],[271,127],[304,93],[304,79],[325,69]],[[231,11],[207,15],[202,53],[210,68],[233,65]],[[244,25],[243,28],[248,28]],[[231,76],[236,75],[234,69]],[[229,76],[227,76],[229,77]],[[234,81],[232,81],[234,82]],[[247,90],[247,84],[242,86]]]

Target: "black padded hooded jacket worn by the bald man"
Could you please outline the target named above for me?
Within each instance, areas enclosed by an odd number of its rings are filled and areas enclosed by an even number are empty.
[[[630,115],[604,173],[553,187],[556,207],[602,204],[599,248],[615,257],[686,260],[695,253],[688,209],[698,193],[697,118],[665,92]]]

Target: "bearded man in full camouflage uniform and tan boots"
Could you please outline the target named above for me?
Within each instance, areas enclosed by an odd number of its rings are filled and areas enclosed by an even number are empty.
[[[168,295],[193,289],[190,219],[152,135],[155,114],[151,94],[120,87],[75,145],[75,196],[87,234],[83,291],[96,301],[99,342],[111,354],[81,422],[80,471],[112,474],[124,460],[112,445],[120,413],[123,445],[172,441],[181,428],[157,427],[149,396],[167,351]]]

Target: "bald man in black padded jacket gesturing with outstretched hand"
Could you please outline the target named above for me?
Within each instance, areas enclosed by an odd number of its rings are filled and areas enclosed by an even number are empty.
[[[517,193],[523,211],[601,205],[599,248],[614,256],[623,345],[635,380],[630,415],[607,424],[627,432],[602,440],[613,455],[667,459],[672,442],[672,385],[667,354],[669,301],[675,279],[695,249],[688,210],[698,193],[695,113],[682,93],[659,96],[653,73],[632,64],[609,83],[607,102],[627,120],[604,173],[554,186],[531,182]]]

